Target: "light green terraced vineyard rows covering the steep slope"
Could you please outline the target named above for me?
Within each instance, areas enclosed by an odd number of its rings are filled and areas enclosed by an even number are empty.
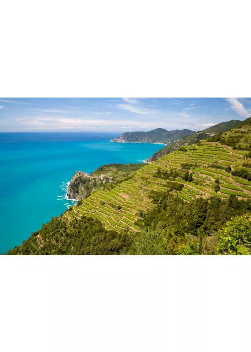
[[[186,202],[213,195],[246,200],[251,198],[251,182],[232,172],[251,162],[247,153],[205,141],[181,148],[146,164],[114,188],[92,193],[74,207],[74,214],[97,218],[107,229],[138,231],[135,221],[154,207],[151,197],[155,192],[172,192]]]

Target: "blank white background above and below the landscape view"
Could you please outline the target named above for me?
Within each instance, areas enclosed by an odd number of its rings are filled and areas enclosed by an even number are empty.
[[[250,97],[247,1],[0,11],[1,97]],[[4,352],[250,350],[247,256],[1,256],[0,270]]]

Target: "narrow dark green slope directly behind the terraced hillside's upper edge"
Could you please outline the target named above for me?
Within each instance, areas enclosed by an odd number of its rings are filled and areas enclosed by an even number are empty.
[[[221,122],[217,125],[214,125],[212,127],[206,128],[203,131],[199,132],[194,132],[191,135],[181,138],[174,143],[169,144],[165,148],[157,151],[154,155],[152,155],[147,161],[151,162],[153,160],[158,159],[159,157],[163,155],[167,155],[171,153],[174,150],[179,149],[182,146],[187,146],[190,144],[194,144],[199,142],[202,139],[208,138],[211,135],[214,135],[218,132],[225,132],[236,126],[240,121],[239,120],[231,120],[231,121],[226,121],[226,122]]]

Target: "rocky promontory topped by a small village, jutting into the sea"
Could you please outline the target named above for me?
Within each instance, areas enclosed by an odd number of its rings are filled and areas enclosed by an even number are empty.
[[[67,196],[71,199],[82,200],[109,184],[116,184],[139,170],[144,164],[106,164],[97,168],[91,174],[76,171],[70,181]]]

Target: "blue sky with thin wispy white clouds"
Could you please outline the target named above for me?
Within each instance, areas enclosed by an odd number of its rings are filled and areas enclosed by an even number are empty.
[[[1,132],[203,130],[251,117],[251,98],[0,98]]]

